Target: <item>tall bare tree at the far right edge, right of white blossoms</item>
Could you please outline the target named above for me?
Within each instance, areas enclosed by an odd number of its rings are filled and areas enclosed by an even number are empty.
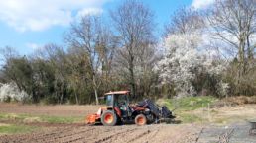
[[[213,37],[229,45],[226,52],[235,53],[236,84],[240,85],[242,78],[255,67],[251,61],[255,50],[256,1],[217,0],[208,20]]]

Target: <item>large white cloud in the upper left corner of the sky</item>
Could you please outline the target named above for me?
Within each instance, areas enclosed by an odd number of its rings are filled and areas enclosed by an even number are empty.
[[[102,13],[110,0],[0,0],[0,21],[20,32],[66,26],[77,15]]]

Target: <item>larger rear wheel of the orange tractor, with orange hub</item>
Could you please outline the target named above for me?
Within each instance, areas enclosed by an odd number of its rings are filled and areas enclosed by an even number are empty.
[[[114,111],[106,110],[101,115],[101,123],[105,126],[114,126],[117,122],[117,116]]]

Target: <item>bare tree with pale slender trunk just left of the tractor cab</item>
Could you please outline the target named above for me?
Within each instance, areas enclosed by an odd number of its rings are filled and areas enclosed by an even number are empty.
[[[83,52],[84,61],[88,63],[89,73],[93,84],[96,104],[98,104],[98,89],[102,84],[102,66],[105,66],[106,58],[111,57],[110,34],[103,26],[102,19],[98,16],[84,16],[79,23],[73,24],[70,33],[65,39],[70,47]],[[111,46],[113,47],[113,46]],[[111,50],[112,52],[112,50]]]

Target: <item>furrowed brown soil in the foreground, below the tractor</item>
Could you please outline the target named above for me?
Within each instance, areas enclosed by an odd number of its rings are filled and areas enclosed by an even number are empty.
[[[155,124],[147,126],[64,126],[24,135],[3,135],[0,142],[21,143],[188,143],[194,142],[199,129],[192,125]]]

